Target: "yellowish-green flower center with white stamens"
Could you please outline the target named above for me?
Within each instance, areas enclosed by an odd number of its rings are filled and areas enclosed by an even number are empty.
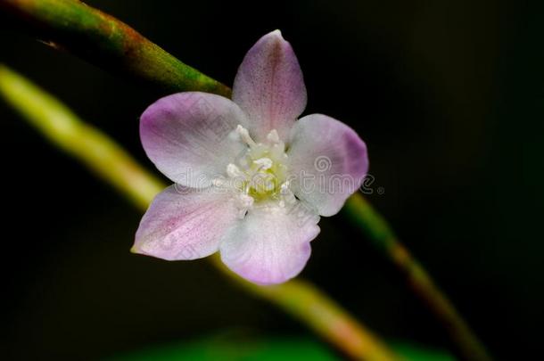
[[[240,217],[252,207],[293,204],[296,199],[289,189],[285,144],[276,129],[268,133],[264,144],[256,143],[248,130],[240,125],[235,132],[236,141],[246,144],[247,149],[227,165],[227,179],[215,179],[214,185],[227,185],[235,191]]]

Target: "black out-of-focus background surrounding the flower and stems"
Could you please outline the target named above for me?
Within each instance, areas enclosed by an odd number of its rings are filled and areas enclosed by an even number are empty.
[[[494,356],[542,335],[544,7],[492,0],[88,1],[231,85],[281,29],[306,113],[367,142],[369,196]],[[2,27],[0,62],[58,95],[146,166],[138,117],[157,94]],[[95,359],[218,330],[307,334],[206,261],[128,252],[140,212],[0,104],[0,319],[8,359]],[[323,219],[303,276],[389,340],[448,339],[342,216]],[[4,358],[4,357],[2,357]],[[538,358],[538,357],[537,357]]]

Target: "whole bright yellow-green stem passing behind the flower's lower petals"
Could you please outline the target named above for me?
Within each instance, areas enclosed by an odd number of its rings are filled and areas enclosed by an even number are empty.
[[[107,135],[78,119],[53,96],[2,65],[0,95],[52,144],[85,163],[139,209],[147,209],[153,197],[167,186],[138,165]],[[351,358],[398,360],[373,332],[310,283],[293,280],[276,286],[258,286],[230,272],[217,257],[211,260],[244,290],[298,318]]]

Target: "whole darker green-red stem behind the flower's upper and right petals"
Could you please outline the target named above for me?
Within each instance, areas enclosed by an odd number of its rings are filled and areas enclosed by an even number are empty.
[[[199,90],[230,96],[230,89],[179,62],[126,24],[76,0],[2,0],[0,9],[22,21],[48,44],[76,53],[116,72],[170,92]],[[350,219],[392,259],[413,289],[449,330],[467,360],[487,361],[482,343],[434,285],[424,268],[400,244],[392,229],[360,195],[348,201]]]

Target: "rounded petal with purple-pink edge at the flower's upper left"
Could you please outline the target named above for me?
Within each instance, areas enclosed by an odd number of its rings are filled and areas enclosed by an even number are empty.
[[[188,92],[161,98],[144,111],[140,137],[152,162],[179,185],[203,188],[243,152],[231,132],[247,127],[243,111],[222,96]]]

